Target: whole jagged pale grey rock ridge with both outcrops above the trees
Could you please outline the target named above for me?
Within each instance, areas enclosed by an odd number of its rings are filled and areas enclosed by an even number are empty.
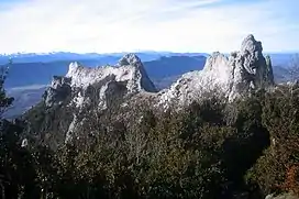
[[[211,95],[233,101],[252,90],[272,86],[270,58],[263,56],[262,43],[248,35],[239,52],[230,56],[213,53],[202,70],[182,75],[169,89],[159,92],[134,54],[123,56],[115,66],[88,68],[71,63],[65,77],[54,77],[44,95],[44,104],[49,110],[69,112],[70,119],[65,121],[63,130],[64,140],[68,141],[89,122],[85,115],[91,112],[115,107],[131,110],[147,102],[150,108],[158,110],[182,108]],[[122,112],[124,117],[125,110]]]

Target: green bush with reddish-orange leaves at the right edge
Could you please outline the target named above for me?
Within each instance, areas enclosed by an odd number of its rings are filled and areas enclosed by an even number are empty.
[[[273,191],[299,191],[299,96],[298,87],[281,86],[266,95],[263,106],[263,123],[269,131],[272,145],[248,173],[266,194]],[[295,179],[289,179],[288,174]],[[292,181],[292,183],[291,183]]]

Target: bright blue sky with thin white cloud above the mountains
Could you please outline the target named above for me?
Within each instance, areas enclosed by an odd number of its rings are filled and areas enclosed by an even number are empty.
[[[0,0],[0,53],[299,52],[298,0]]]

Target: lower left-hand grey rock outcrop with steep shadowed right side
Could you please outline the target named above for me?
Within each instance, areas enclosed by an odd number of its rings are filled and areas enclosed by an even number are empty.
[[[123,96],[156,91],[141,59],[134,54],[123,56],[117,66],[89,68],[71,63],[65,77],[54,77],[44,100],[47,107],[52,107],[71,95],[71,104],[77,108],[96,100],[99,109],[106,109],[112,93],[118,95],[120,90]]]

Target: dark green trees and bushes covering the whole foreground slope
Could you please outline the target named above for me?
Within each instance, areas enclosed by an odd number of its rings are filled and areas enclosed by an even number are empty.
[[[9,106],[4,91],[0,98],[2,108]],[[136,108],[130,125],[109,120],[109,130],[90,115],[82,134],[97,133],[88,142],[55,150],[43,143],[22,147],[22,124],[3,120],[0,194],[5,199],[299,194],[298,103],[297,86],[280,86],[230,104],[211,98],[181,111]]]

